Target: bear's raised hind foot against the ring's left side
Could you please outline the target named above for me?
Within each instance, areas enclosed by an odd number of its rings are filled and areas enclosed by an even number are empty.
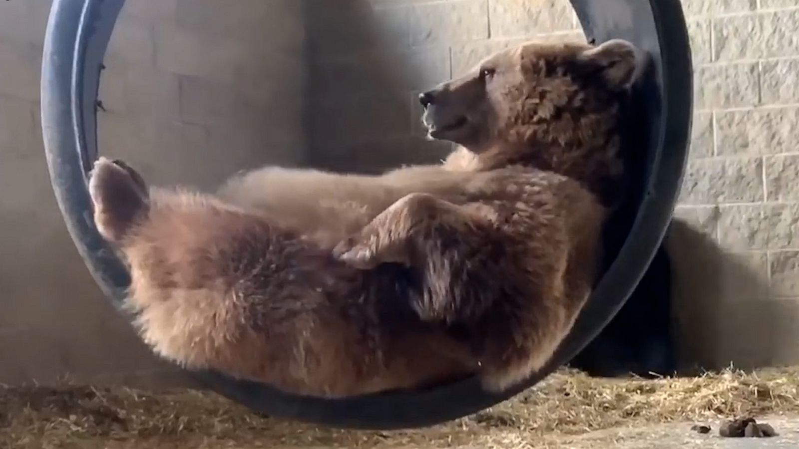
[[[122,161],[100,157],[89,179],[94,223],[106,240],[119,242],[146,217],[149,192],[142,177]]]

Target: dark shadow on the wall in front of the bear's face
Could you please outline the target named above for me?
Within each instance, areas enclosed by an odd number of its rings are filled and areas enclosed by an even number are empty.
[[[375,173],[446,156],[451,145],[424,138],[416,97],[451,76],[449,49],[411,48],[407,9],[361,0],[304,8],[311,165]]]

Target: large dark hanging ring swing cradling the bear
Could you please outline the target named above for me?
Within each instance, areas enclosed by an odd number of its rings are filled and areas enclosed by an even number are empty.
[[[593,340],[641,279],[670,224],[686,163],[692,66],[679,0],[571,0],[586,37],[623,38],[650,55],[634,92],[640,105],[634,195],[611,220],[610,259],[588,304],[549,364],[526,383],[491,394],[475,378],[416,391],[346,399],[288,395],[218,372],[190,372],[253,411],[332,427],[423,427],[470,415],[511,398],[566,364]],[[105,49],[124,0],[55,0],[42,62],[42,129],[50,179],[67,228],[94,280],[118,308],[129,272],[91,219],[87,173],[97,158],[97,90]]]

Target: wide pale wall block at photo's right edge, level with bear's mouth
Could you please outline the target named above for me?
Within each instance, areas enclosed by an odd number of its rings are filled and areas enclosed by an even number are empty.
[[[799,148],[799,109],[775,108],[716,114],[718,155],[792,153]]]

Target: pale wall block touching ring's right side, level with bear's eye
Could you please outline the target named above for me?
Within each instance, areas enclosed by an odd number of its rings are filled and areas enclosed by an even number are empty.
[[[694,107],[698,109],[757,105],[757,64],[702,66],[694,70]]]

